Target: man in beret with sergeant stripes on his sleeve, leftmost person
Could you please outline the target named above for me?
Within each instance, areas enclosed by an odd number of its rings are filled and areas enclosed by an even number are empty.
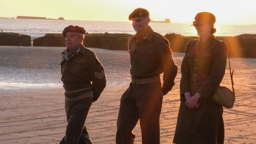
[[[71,25],[62,35],[67,47],[60,65],[68,124],[60,144],[92,144],[84,124],[92,102],[106,87],[105,71],[95,53],[82,44],[84,28]]]

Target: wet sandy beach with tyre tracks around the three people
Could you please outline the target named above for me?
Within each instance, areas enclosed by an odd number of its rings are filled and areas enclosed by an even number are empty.
[[[58,144],[67,120],[60,81],[64,47],[0,46],[0,144]],[[94,50],[106,69],[107,87],[91,106],[87,120],[94,144],[115,144],[120,97],[130,83],[127,51]],[[180,65],[184,54],[174,53],[176,85],[163,99],[161,144],[171,144],[179,108]],[[236,103],[224,109],[225,144],[256,141],[256,59],[231,58]],[[231,88],[228,66],[222,86]],[[139,123],[135,143],[141,143]]]

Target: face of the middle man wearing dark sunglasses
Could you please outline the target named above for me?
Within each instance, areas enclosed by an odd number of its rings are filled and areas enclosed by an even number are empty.
[[[132,27],[135,31],[144,31],[148,28],[149,18],[132,18]]]

